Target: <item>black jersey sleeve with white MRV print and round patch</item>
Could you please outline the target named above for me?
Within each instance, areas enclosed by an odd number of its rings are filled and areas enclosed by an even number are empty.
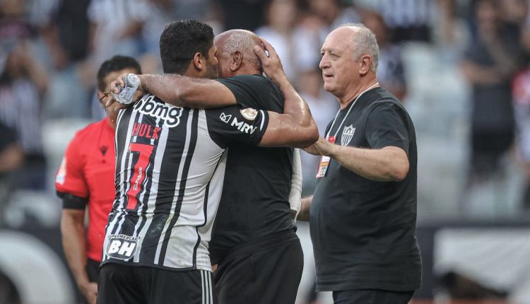
[[[208,133],[221,148],[230,144],[257,146],[269,124],[269,113],[238,105],[206,110]]]

